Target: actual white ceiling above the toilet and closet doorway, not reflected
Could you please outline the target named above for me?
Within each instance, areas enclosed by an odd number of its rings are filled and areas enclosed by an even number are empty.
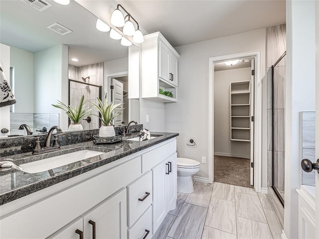
[[[95,1],[97,3],[98,1]],[[176,47],[286,22],[285,0],[118,0]]]

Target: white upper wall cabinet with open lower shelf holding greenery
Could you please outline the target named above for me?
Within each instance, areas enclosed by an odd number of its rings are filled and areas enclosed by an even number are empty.
[[[142,98],[176,102],[179,54],[160,34],[146,35],[142,43]]]

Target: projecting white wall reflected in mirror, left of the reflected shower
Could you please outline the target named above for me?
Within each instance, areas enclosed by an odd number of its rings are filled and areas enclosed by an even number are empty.
[[[67,116],[51,105],[68,102],[67,52],[59,44],[34,53],[34,113],[60,113],[62,130],[67,129]]]

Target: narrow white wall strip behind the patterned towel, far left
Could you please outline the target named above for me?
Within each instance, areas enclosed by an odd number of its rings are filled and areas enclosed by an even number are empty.
[[[3,73],[8,80],[10,76],[10,47],[0,43],[0,62]],[[10,130],[10,106],[0,107],[0,129],[6,128]],[[6,137],[8,133],[1,133],[0,137]]]

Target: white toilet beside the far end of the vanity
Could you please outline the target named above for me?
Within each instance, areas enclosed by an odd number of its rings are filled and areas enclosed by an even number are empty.
[[[177,192],[193,193],[192,175],[199,171],[200,163],[189,158],[177,158]]]

